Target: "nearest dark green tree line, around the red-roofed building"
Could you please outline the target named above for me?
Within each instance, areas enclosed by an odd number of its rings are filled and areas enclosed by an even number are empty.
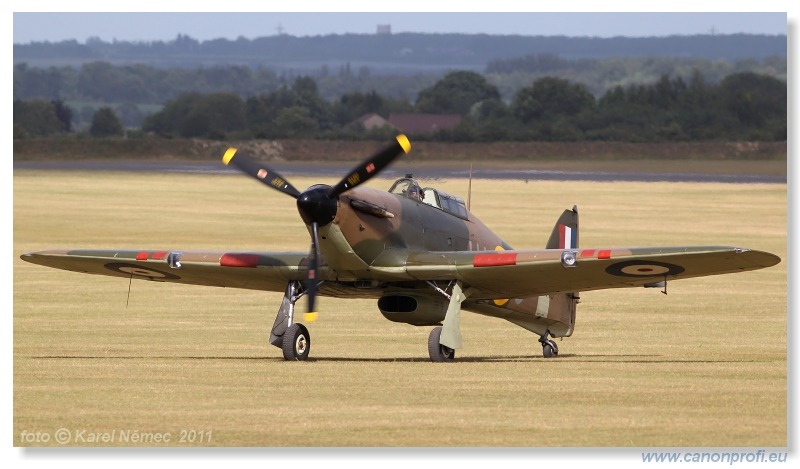
[[[119,116],[104,107],[90,133],[122,135]],[[719,83],[695,71],[688,79],[663,75],[656,83],[618,85],[596,98],[576,82],[542,77],[510,102],[476,72],[456,71],[422,89],[416,101],[374,91],[329,101],[311,77],[274,91],[242,97],[234,92],[184,93],[144,119],[141,130],[164,137],[385,138],[393,129],[366,131],[354,121],[375,113],[459,114],[460,124],[416,139],[442,141],[627,142],[786,140],[787,87],[774,77],[736,73]],[[14,138],[69,133],[71,112],[59,100],[14,102]],[[109,121],[112,121],[109,123]],[[116,122],[114,122],[116,121]]]

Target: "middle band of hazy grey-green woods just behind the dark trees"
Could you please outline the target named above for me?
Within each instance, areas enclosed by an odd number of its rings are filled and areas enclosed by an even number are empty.
[[[713,83],[740,72],[785,80],[787,62],[785,56],[726,61],[692,57],[566,59],[539,53],[491,60],[480,73],[498,88],[505,101],[510,101],[520,88],[545,76],[583,83],[599,96],[618,85],[653,83],[665,74],[688,77],[695,70]],[[351,65],[350,62],[338,66],[322,64],[303,73],[278,72],[274,68],[252,64],[160,68],[141,63],[113,65],[106,61],[93,61],[79,67],[42,68],[19,62],[14,65],[13,96],[14,99],[61,99],[77,106],[104,102],[146,108],[160,106],[189,90],[252,96],[291,85],[299,76],[310,76],[317,82],[320,95],[327,100],[354,91],[376,91],[384,96],[414,100],[420,90],[431,86],[444,74],[442,71],[381,73],[369,66]]]

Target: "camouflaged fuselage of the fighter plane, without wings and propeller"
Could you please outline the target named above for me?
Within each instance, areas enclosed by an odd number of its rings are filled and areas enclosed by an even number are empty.
[[[418,290],[415,295],[439,304],[440,293],[405,272],[410,254],[512,249],[465,207],[446,205],[460,202],[457,197],[431,188],[424,191],[423,200],[363,186],[340,195],[333,221],[319,229],[320,252],[335,277],[330,279],[335,283],[323,284],[321,291],[339,297],[380,298],[393,290]],[[442,287],[447,280],[442,279]],[[542,310],[548,309],[549,301],[543,303],[540,297],[475,299],[462,307],[499,315],[539,334],[550,330],[554,336],[570,335],[574,315],[547,317]]]

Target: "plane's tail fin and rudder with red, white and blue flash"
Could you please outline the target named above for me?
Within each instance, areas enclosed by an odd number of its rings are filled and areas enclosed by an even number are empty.
[[[578,248],[578,207],[564,210],[558,218],[546,249],[577,249]],[[575,329],[575,312],[578,309],[580,295],[574,293],[561,293],[550,295],[547,305],[547,318],[558,321],[553,324],[551,333],[556,337],[569,337]]]

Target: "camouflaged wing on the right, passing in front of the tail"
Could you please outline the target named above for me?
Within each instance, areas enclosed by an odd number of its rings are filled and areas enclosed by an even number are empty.
[[[420,280],[461,280],[470,299],[525,298],[544,294],[654,284],[773,266],[773,254],[729,246],[575,249],[574,266],[563,249],[428,252],[411,254],[406,272]]]

